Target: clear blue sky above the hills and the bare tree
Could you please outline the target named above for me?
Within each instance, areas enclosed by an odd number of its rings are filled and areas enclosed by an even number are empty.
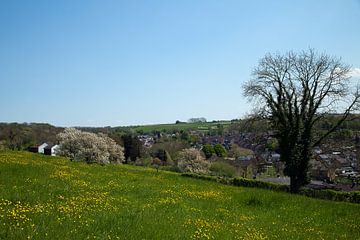
[[[258,60],[309,47],[359,70],[360,1],[2,0],[0,122],[239,118]]]

